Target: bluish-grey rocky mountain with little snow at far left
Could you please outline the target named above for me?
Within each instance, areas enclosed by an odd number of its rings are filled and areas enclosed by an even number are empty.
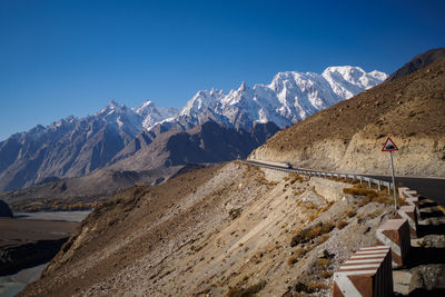
[[[150,109],[149,112],[147,110]],[[0,189],[13,190],[48,178],[79,177],[105,167],[144,130],[146,103],[136,111],[111,101],[95,116],[37,126],[0,142]],[[162,116],[170,116],[164,110]]]

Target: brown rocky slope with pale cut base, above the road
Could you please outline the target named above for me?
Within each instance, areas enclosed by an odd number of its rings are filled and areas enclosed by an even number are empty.
[[[388,154],[380,151],[387,136],[399,148],[396,175],[445,177],[445,59],[278,132],[249,158],[389,175]]]

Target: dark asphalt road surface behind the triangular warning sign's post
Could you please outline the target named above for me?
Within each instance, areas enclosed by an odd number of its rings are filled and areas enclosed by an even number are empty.
[[[390,181],[390,177],[386,176],[368,176],[375,179]],[[412,178],[396,177],[396,185],[408,187],[416,190],[418,195],[435,200],[437,204],[445,206],[445,179],[438,178]]]

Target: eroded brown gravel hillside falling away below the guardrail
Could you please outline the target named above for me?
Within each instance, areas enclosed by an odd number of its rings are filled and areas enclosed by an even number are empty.
[[[332,271],[392,216],[345,187],[230,162],[129,188],[21,296],[325,296]]]

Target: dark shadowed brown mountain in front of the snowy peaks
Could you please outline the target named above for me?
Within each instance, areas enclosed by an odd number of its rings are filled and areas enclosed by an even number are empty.
[[[274,136],[279,128],[273,123],[256,123],[250,130],[234,129],[207,121],[192,129],[172,130],[145,142],[128,158],[109,167],[110,170],[144,170],[186,164],[209,164],[246,158],[255,148]],[[145,138],[142,132],[135,141]]]

